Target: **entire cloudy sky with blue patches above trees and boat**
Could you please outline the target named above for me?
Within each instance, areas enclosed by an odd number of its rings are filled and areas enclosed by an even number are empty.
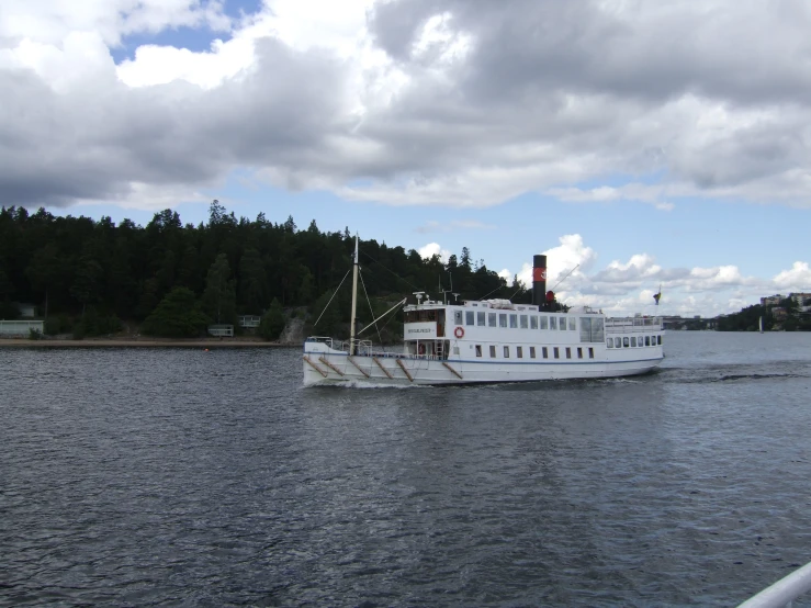
[[[216,198],[733,312],[811,292],[809,32],[804,0],[2,0],[0,204]]]

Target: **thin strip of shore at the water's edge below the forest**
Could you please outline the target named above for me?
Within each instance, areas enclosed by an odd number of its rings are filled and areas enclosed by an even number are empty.
[[[293,348],[300,345],[268,342],[244,338],[160,339],[160,338],[86,338],[83,340],[0,338],[0,348]]]

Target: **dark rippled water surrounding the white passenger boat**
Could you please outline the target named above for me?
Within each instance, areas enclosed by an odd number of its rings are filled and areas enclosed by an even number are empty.
[[[811,561],[811,335],[666,339],[633,380],[406,390],[0,350],[0,604],[736,605]]]

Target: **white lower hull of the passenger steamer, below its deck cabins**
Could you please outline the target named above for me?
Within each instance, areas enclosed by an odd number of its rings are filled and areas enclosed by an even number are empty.
[[[349,356],[323,342],[305,342],[304,385],[449,385],[605,379],[638,375],[662,362],[662,349],[629,350],[630,357],[586,360],[476,361],[394,353]]]

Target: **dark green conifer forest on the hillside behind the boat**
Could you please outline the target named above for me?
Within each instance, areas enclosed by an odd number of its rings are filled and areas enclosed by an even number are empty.
[[[452,282],[460,300],[531,299],[517,278],[508,284],[484,260],[472,260],[466,247],[447,262],[373,239],[359,247],[359,302],[363,292],[371,300],[371,306],[359,305],[361,324],[404,294],[426,291],[436,297],[440,283]],[[300,230],[292,216],[277,224],[263,213],[254,221],[237,218],[216,200],[209,221],[196,226],[183,225],[171,210],[140,226],[3,206],[0,318],[15,318],[14,303],[25,302],[46,318],[46,333],[112,334],[126,322],[145,334],[180,337],[199,335],[212,323],[238,326],[238,315],[258,315],[260,333],[273,339],[293,313],[308,329],[331,335],[349,318],[351,278],[345,279],[353,250],[349,228],[323,233],[313,219]],[[388,327],[388,339],[401,323]]]

